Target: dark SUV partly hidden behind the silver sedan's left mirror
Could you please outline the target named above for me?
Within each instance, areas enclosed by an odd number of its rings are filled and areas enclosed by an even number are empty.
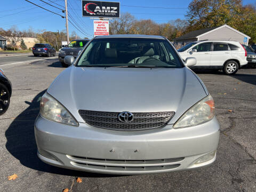
[[[71,41],[67,47],[63,47],[59,53],[59,61],[61,62],[62,67],[68,67],[68,65],[64,63],[64,58],[66,55],[72,55],[74,58],[76,58],[79,51],[81,51],[88,42],[89,39],[76,39]]]

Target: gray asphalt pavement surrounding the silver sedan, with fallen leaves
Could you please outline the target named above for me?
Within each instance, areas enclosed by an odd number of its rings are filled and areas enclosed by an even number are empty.
[[[0,58],[0,65],[26,59]],[[61,169],[37,158],[34,120],[39,97],[64,70],[56,57],[39,59],[43,60],[0,66],[13,85],[10,108],[0,116],[0,191],[256,191],[256,69],[241,69],[234,76],[197,72],[215,100],[221,125],[213,165],[119,176]],[[18,178],[9,181],[14,173]],[[82,183],[76,182],[77,177]]]

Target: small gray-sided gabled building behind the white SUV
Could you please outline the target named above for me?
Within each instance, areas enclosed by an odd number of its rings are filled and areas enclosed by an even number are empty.
[[[237,41],[239,43],[248,45],[251,37],[241,33],[240,31],[228,26],[218,26],[206,29],[191,31],[174,39],[176,45],[186,45],[190,42],[203,41],[203,40],[226,40]],[[178,46],[179,47],[179,46]]]

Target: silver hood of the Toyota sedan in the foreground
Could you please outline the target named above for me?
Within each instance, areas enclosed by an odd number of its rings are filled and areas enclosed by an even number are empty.
[[[79,109],[122,112],[175,111],[175,123],[187,109],[208,94],[201,79],[187,67],[101,68],[70,66],[47,92],[78,122]]]

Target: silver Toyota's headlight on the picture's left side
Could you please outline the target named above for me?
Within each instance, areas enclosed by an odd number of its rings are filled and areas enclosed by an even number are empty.
[[[41,99],[40,114],[51,121],[78,126],[77,121],[68,110],[47,93],[44,93]]]

